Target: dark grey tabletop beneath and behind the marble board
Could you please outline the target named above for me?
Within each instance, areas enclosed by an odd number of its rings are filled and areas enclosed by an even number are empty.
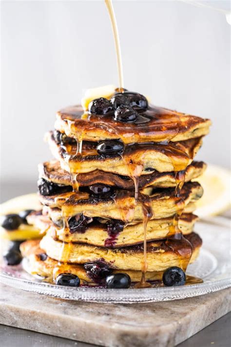
[[[10,182],[0,184],[0,202],[17,195],[36,191],[36,183]],[[12,326],[0,325],[0,345],[2,347],[69,347],[94,346],[60,337],[23,330]],[[216,322],[184,341],[179,347],[230,347],[231,346],[231,312]]]

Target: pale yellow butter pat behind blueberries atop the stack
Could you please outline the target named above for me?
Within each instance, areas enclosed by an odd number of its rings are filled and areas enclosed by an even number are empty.
[[[87,89],[82,100],[82,108],[86,111],[90,102],[97,98],[110,99],[115,93],[116,87],[113,85]]]

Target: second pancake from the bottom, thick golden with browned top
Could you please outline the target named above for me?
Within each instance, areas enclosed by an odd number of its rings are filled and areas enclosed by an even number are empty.
[[[200,237],[191,233],[185,238],[193,247],[192,261],[198,256],[202,244]],[[149,271],[164,271],[171,266],[182,266],[182,261],[191,252],[187,241],[173,240],[147,242],[147,265]],[[84,264],[86,262],[104,261],[114,269],[142,271],[143,244],[122,247],[103,248],[80,243],[65,243],[54,240],[48,232],[40,241],[40,247],[48,257],[64,263]]]

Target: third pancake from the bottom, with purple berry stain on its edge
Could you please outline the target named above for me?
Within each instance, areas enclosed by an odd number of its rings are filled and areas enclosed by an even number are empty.
[[[193,231],[195,221],[198,219],[193,214],[183,214],[179,219],[178,227],[183,235],[188,235]],[[77,242],[96,245],[98,247],[124,247],[143,242],[143,223],[135,225],[125,225],[122,231],[110,232],[106,223],[93,221],[88,224],[85,231],[71,233],[70,230],[58,228],[48,216],[27,217],[27,220],[40,230],[50,232],[53,239],[65,242]],[[106,222],[106,220],[105,220]],[[173,226],[173,218],[161,218],[150,220],[147,224],[147,241],[165,239]],[[108,231],[109,230],[109,231]]]

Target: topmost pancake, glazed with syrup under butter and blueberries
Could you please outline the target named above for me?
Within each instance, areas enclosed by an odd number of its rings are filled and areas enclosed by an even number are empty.
[[[90,115],[81,106],[70,106],[57,112],[55,128],[67,136],[87,141],[121,139],[123,143],[182,141],[204,136],[211,121],[149,106],[135,123],[120,123],[113,115]]]

